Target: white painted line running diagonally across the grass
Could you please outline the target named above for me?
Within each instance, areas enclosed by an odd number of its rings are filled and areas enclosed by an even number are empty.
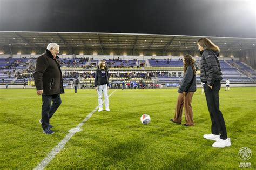
[[[116,90],[114,90],[109,97],[116,92]],[[105,102],[105,100],[103,101],[103,103]],[[102,104],[103,104],[102,103]],[[73,135],[75,135],[75,133],[82,131],[82,129],[80,128],[81,126],[83,126],[83,124],[92,116],[93,113],[95,113],[97,111],[97,109],[99,108],[99,106],[95,107],[95,109],[93,111],[91,111],[91,113],[89,113],[83,121],[81,121],[75,128],[72,128],[69,130],[69,134],[67,134],[65,136],[64,139],[62,139],[62,141],[60,141],[58,143],[58,145],[56,145],[51,152],[37,165],[37,167],[34,168],[34,170],[36,169],[44,169],[49,163],[50,161],[55,158],[55,156],[64,148],[64,146],[66,145],[66,143],[73,137]]]

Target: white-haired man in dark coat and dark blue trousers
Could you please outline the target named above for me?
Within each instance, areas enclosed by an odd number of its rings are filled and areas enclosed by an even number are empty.
[[[59,58],[59,45],[50,43],[43,55],[37,58],[36,69],[33,73],[38,95],[42,95],[42,124],[43,133],[53,134],[50,119],[62,103],[60,94],[64,93],[62,71],[56,61]]]

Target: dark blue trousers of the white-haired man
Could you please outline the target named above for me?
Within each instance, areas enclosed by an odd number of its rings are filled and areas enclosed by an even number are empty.
[[[52,115],[62,103],[62,99],[60,99],[60,94],[54,94],[52,96],[42,96],[42,100],[42,127],[45,130],[50,124]]]

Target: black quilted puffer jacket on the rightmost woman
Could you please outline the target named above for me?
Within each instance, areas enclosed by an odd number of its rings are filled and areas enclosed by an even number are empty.
[[[215,81],[222,80],[219,52],[205,49],[201,55],[201,81],[212,86]]]

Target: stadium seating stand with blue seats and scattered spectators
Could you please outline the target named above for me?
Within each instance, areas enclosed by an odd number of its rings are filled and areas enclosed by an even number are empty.
[[[125,81],[125,83],[143,82],[145,84],[180,84],[183,75],[182,60],[154,59],[149,60],[106,60],[110,69],[110,81]],[[36,59],[0,58],[1,84],[23,84],[33,79]],[[82,84],[93,86],[94,75],[99,59],[73,58],[59,59],[63,71],[63,81],[70,84],[76,77],[81,78]],[[146,65],[146,63],[150,63]],[[142,64],[142,65],[140,65]],[[198,63],[199,64],[199,63]],[[256,71],[250,66],[233,60],[220,60],[223,80],[231,83],[255,83]],[[159,71],[161,70],[161,71]],[[196,73],[197,83],[200,84],[200,70]]]

